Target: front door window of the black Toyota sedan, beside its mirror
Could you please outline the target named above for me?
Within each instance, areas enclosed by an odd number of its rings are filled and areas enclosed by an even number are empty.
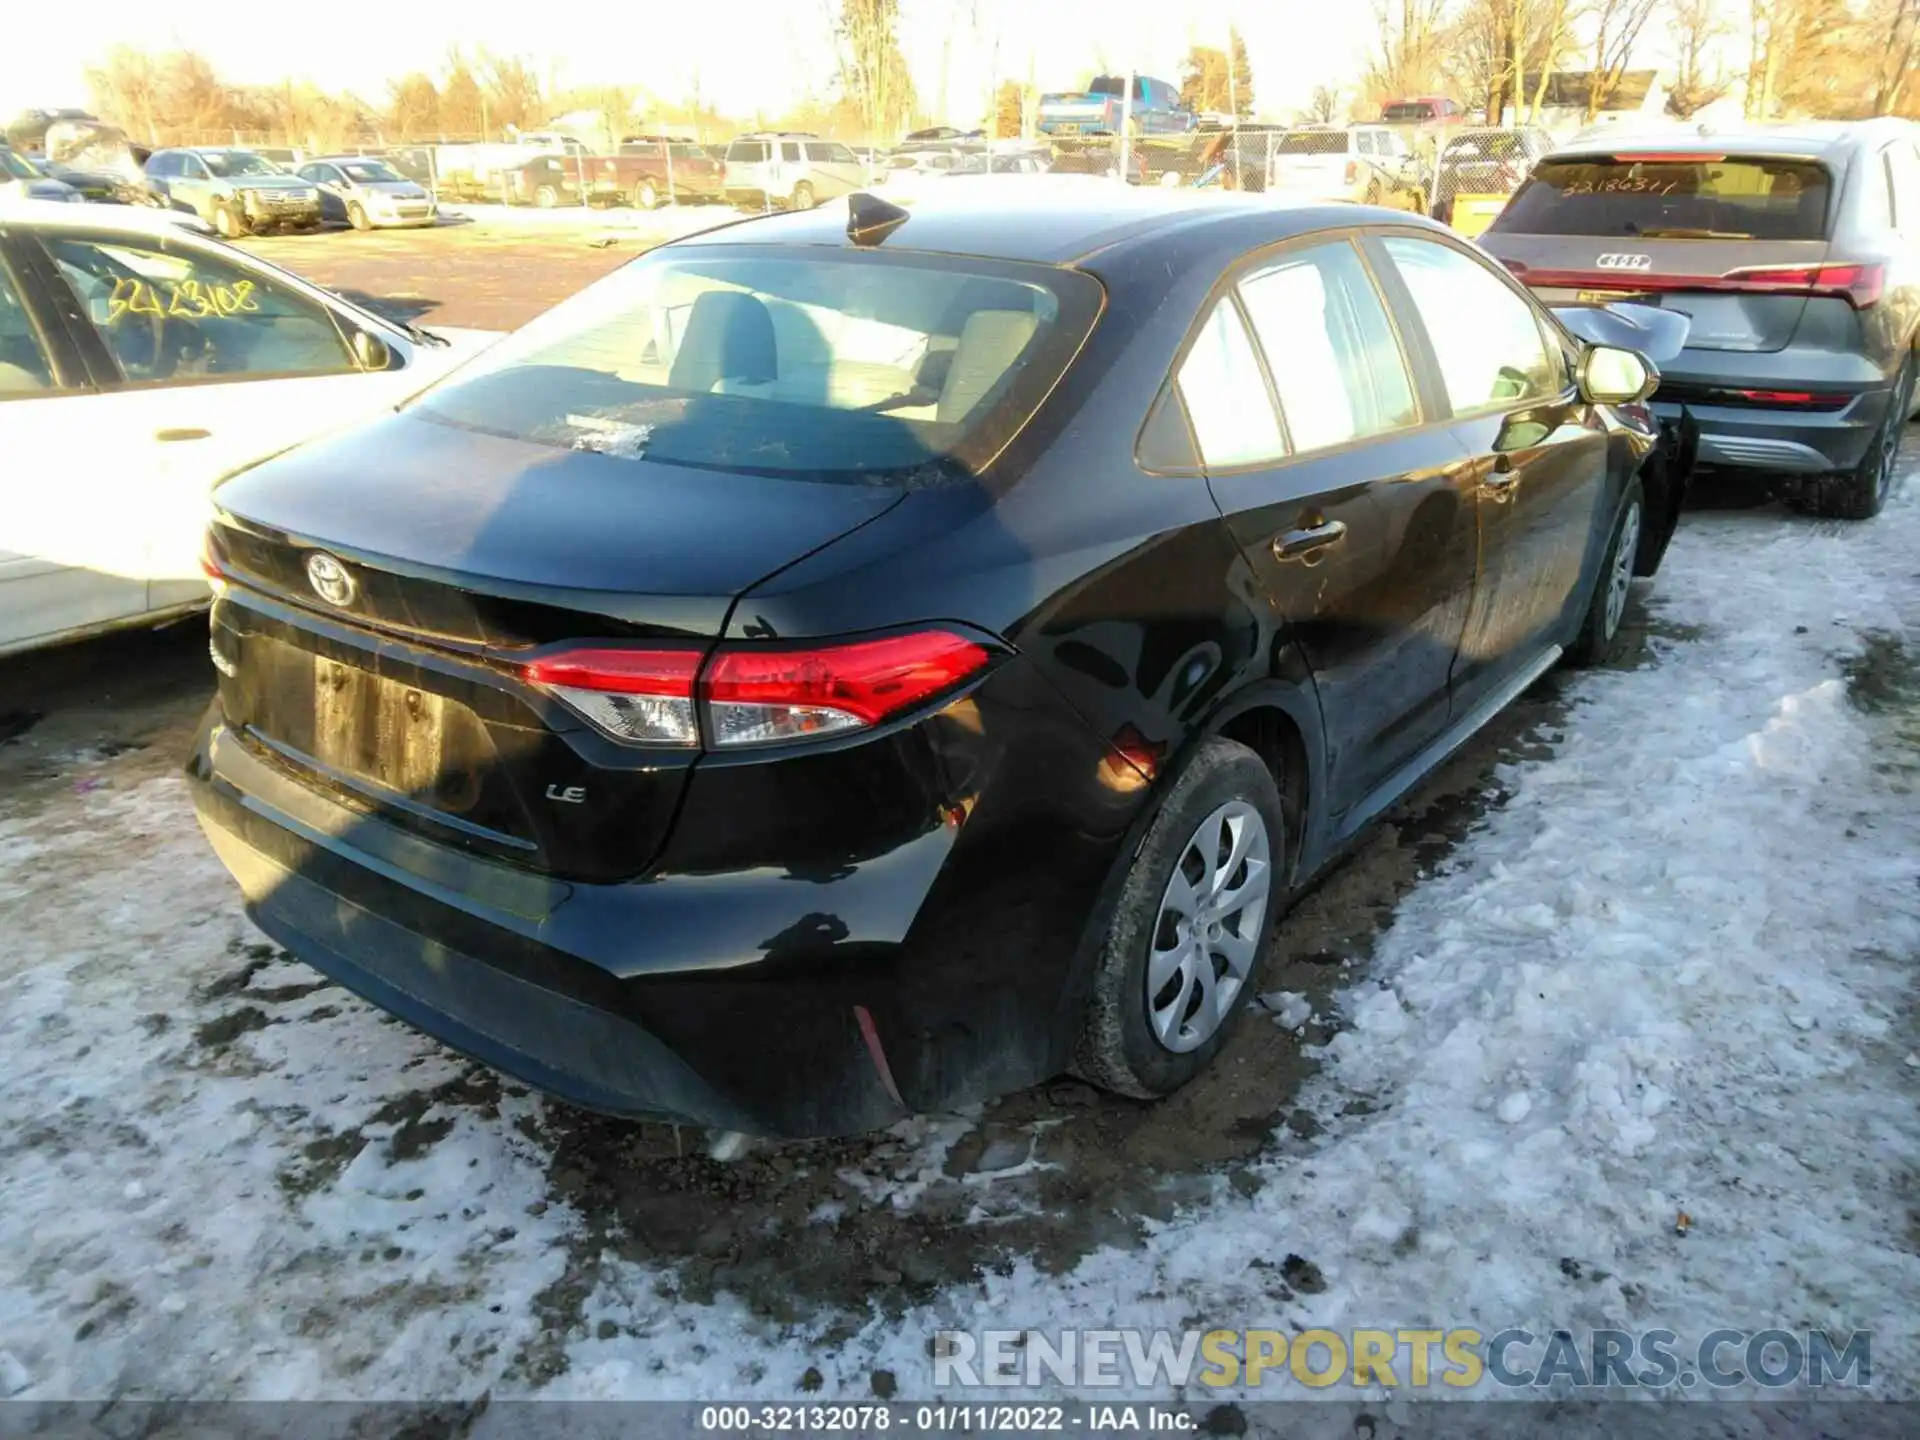
[[[1413,296],[1455,415],[1567,388],[1565,357],[1548,349],[1540,315],[1486,265],[1434,240],[1390,236],[1382,244]]]

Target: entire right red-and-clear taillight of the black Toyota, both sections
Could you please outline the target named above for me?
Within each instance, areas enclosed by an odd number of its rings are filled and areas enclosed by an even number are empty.
[[[870,730],[929,701],[993,659],[948,630],[839,645],[691,649],[580,647],[520,666],[609,735],[643,745],[778,745]]]

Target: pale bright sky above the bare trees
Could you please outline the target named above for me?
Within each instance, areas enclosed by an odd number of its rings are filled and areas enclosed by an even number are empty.
[[[88,104],[86,67],[115,42],[198,50],[232,83],[307,79],[374,104],[394,77],[436,71],[449,46],[486,46],[532,61],[557,86],[637,84],[684,100],[697,84],[726,113],[774,113],[829,86],[833,8],[833,0],[576,0],[555,10],[328,0],[324,19],[303,10],[296,27],[232,0],[94,0],[75,25],[48,23],[36,6],[40,19],[12,36],[27,42],[0,46],[0,115]],[[937,104],[945,56],[952,119],[968,123],[985,113],[993,75],[1031,71],[1039,88],[1058,90],[1108,65],[1177,83],[1187,48],[1223,48],[1229,21],[1246,36],[1260,108],[1292,109],[1317,84],[1352,83],[1371,31],[1365,0],[902,0],[900,8],[902,50],[924,104]]]

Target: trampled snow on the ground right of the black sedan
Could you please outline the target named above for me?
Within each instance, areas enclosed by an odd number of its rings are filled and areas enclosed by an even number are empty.
[[[876,1319],[828,1388],[925,1377],[943,1325],[1667,1327],[1686,1344],[1782,1325],[1874,1331],[1878,1392],[1910,1398],[1920,689],[1872,714],[1843,676],[1874,691],[1862,657],[1920,659],[1920,497],[1870,526],[1692,515],[1653,611],[1688,637],[1578,682],[1565,741],[1509,768],[1511,799],[1344,996],[1306,1096],[1329,1125],[1309,1160],[1267,1162],[1254,1198],[1221,1187],[1144,1254],[1021,1265]],[[1342,1119],[1356,1096],[1375,1114]],[[1292,1294],[1290,1254],[1323,1292]],[[632,1294],[612,1277],[599,1302],[660,1323]],[[572,1359],[568,1394],[662,1388],[622,1346]],[[722,1354],[666,1388],[743,1379]]]

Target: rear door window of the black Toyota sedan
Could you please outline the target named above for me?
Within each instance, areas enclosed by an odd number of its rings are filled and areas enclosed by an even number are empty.
[[[1294,453],[1415,424],[1413,380],[1350,244],[1315,246],[1240,282]]]

